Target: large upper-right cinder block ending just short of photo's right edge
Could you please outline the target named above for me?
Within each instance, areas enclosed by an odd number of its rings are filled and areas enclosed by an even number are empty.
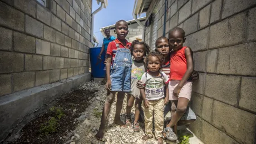
[[[245,13],[240,13],[210,27],[209,48],[224,47],[244,40]]]

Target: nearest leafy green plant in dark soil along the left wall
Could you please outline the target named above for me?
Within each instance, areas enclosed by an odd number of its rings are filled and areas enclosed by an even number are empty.
[[[50,133],[56,132],[57,126],[57,120],[55,119],[55,117],[51,117],[50,120],[40,126],[40,133],[43,133],[43,135],[48,135]]]

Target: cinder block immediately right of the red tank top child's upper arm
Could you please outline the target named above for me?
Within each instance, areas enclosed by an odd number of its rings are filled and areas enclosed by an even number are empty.
[[[194,69],[205,72],[206,51],[194,53]]]

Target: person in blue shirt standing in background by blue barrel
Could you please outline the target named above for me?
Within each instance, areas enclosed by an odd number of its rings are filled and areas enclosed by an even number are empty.
[[[106,54],[105,59],[107,58],[107,53],[106,53],[107,52],[107,46],[109,45],[110,42],[112,42],[113,40],[116,39],[114,36],[110,35],[110,29],[105,29],[104,33],[106,35],[106,38],[103,39],[103,44],[102,44],[102,47],[101,47],[101,51],[100,51],[100,54],[98,56],[99,59],[101,59],[101,54],[103,52],[105,52],[105,54]],[[101,84],[105,85],[106,81],[107,81],[107,79],[106,79],[106,76],[105,76],[104,80],[101,81]]]

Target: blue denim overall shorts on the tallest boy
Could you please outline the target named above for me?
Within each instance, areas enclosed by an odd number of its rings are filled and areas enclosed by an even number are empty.
[[[115,41],[114,41],[115,42]],[[116,43],[116,42],[115,42]],[[111,65],[111,91],[131,91],[131,52],[128,48],[120,48],[116,44],[116,56]]]

